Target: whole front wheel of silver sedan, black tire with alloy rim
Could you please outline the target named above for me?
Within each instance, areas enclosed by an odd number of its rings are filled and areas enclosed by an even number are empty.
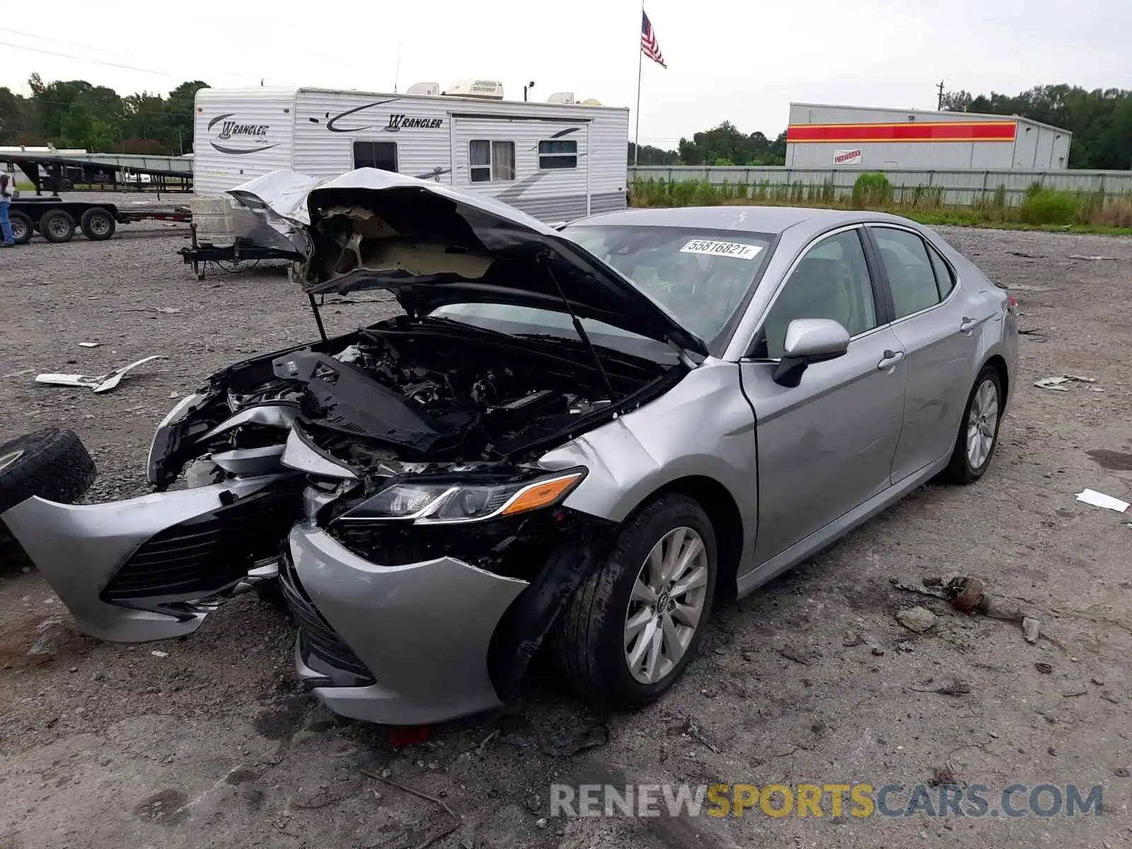
[[[715,533],[697,501],[674,492],[640,509],[559,623],[558,663],[574,688],[615,706],[659,698],[695,654],[715,574]]]

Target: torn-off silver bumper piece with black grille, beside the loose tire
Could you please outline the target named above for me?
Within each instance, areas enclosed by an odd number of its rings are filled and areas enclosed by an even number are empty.
[[[288,475],[215,483],[96,505],[33,497],[0,518],[75,617],[82,634],[119,643],[196,631],[207,609],[191,603],[247,572],[239,552],[283,521]],[[275,520],[277,523],[278,520]],[[282,539],[281,532],[275,537]],[[277,550],[277,549],[276,549]]]

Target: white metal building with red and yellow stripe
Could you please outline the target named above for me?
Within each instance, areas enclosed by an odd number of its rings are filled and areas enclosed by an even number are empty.
[[[1073,134],[1017,115],[791,103],[788,168],[1058,170]]]

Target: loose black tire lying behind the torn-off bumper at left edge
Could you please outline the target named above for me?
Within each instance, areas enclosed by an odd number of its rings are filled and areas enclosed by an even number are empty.
[[[0,444],[0,513],[32,496],[71,504],[94,481],[94,461],[74,430],[46,428]]]

